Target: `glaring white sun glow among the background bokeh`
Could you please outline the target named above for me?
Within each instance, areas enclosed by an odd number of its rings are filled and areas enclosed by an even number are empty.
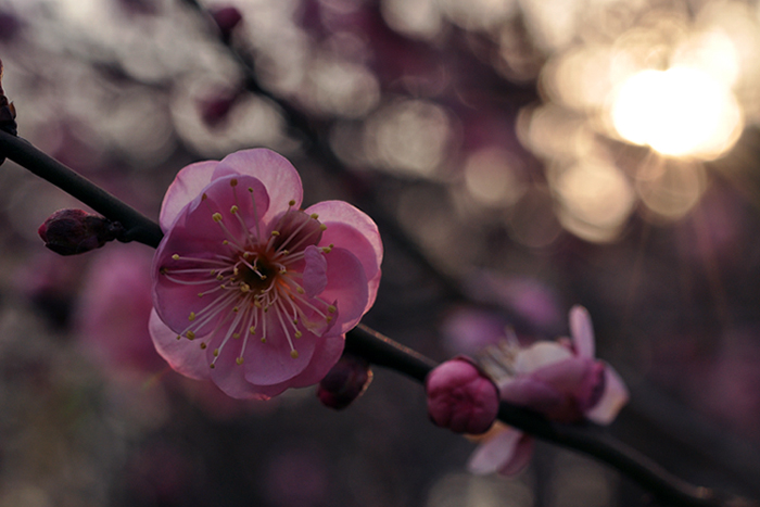
[[[689,67],[634,74],[620,87],[611,116],[618,134],[632,143],[701,159],[730,149],[744,124],[733,92]]]

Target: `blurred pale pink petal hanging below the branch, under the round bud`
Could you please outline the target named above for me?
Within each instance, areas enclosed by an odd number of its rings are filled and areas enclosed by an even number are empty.
[[[481,476],[496,471],[504,473],[502,470],[517,473],[528,464],[532,451],[532,446],[525,443],[520,445],[523,436],[528,435],[515,428],[504,427],[496,435],[478,446],[470,456],[467,469]],[[514,465],[519,465],[519,469]]]

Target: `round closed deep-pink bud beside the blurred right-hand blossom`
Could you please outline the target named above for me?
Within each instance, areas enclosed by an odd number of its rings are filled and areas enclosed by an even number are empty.
[[[433,369],[425,381],[432,421],[456,433],[484,433],[498,413],[498,390],[468,357]]]

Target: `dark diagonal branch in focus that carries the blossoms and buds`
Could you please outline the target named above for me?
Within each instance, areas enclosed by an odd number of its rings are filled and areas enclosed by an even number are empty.
[[[157,224],[42,153],[28,141],[0,131],[0,159],[3,156],[68,192],[110,220],[121,223],[126,232],[119,237],[119,241],[138,241],[153,248],[161,242],[163,232]],[[346,351],[377,366],[404,373],[420,383],[425,382],[428,372],[436,365],[434,360],[364,325],[358,325],[349,331]],[[615,467],[668,505],[676,507],[758,507],[760,505],[744,498],[718,498],[711,490],[687,484],[595,424],[559,424],[506,402],[502,402],[498,418],[539,439],[579,451]]]

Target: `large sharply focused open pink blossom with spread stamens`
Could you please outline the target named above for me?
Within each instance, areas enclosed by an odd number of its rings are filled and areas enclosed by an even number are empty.
[[[375,302],[382,243],[342,201],[301,210],[295,168],[243,150],[179,172],[161,208],[150,331],[180,373],[232,397],[317,383]]]

